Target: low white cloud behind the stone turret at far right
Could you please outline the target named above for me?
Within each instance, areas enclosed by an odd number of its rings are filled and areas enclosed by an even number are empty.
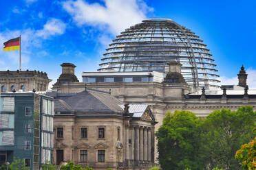
[[[249,88],[256,88],[256,70],[254,69],[247,69],[246,73],[248,74],[247,77],[247,84]],[[238,84],[238,78],[236,77],[225,77],[221,76],[220,81],[222,85],[237,85]]]

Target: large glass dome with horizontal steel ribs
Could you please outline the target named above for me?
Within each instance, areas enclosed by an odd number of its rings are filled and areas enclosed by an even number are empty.
[[[182,75],[194,88],[217,86],[213,59],[190,29],[171,19],[147,19],[121,32],[106,49],[98,71],[160,71],[167,62],[182,64]]]

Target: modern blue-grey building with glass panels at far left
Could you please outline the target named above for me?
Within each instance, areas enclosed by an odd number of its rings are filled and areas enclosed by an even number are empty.
[[[1,93],[0,165],[14,158],[30,169],[52,160],[52,97],[36,93]]]

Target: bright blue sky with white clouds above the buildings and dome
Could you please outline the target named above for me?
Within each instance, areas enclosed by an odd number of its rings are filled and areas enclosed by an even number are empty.
[[[147,18],[173,19],[208,45],[224,84],[237,84],[239,67],[256,88],[256,1],[0,0],[0,47],[22,36],[22,69],[47,72],[56,82],[60,64],[76,75],[96,71],[107,45]],[[17,70],[19,51],[0,51],[0,69]]]

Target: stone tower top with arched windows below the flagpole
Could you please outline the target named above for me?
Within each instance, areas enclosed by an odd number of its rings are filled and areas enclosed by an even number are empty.
[[[40,71],[0,71],[1,92],[16,91],[45,91],[49,82],[47,73]]]

